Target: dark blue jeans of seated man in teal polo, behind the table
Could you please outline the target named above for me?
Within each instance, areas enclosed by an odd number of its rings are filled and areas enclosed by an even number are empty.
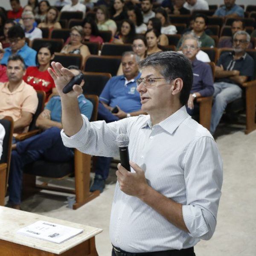
[[[44,159],[52,162],[66,162],[73,156],[73,149],[63,145],[61,130],[52,127],[29,139],[17,143],[17,150],[12,151],[9,173],[9,203],[20,204],[23,167]]]

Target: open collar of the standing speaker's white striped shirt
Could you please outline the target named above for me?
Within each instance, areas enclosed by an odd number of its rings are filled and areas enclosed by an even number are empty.
[[[173,113],[171,116],[167,117],[157,125],[163,128],[165,131],[169,132],[169,134],[173,134],[174,131],[179,127],[179,125],[188,117],[189,117],[189,114],[186,111],[186,107],[183,106],[179,110],[177,110],[175,113]],[[142,128],[147,128],[147,127],[149,128],[153,127],[150,116],[148,116],[148,119],[142,125]]]

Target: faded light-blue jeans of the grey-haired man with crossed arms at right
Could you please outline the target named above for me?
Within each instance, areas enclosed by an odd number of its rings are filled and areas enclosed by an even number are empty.
[[[227,104],[236,99],[241,98],[242,89],[237,84],[230,84],[226,82],[214,83],[213,105],[212,105],[212,119],[210,132],[213,134],[216,130],[221,116],[227,107]]]

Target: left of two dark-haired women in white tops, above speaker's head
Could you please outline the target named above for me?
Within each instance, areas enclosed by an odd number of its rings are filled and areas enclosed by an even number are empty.
[[[145,34],[147,31],[147,25],[143,23],[143,15],[140,8],[137,6],[130,6],[127,11],[129,20],[135,24],[135,31],[137,34]]]

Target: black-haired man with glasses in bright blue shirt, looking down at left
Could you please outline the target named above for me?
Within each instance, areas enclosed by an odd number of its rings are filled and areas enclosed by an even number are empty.
[[[26,68],[29,66],[36,66],[35,57],[37,52],[28,47],[25,39],[25,33],[19,25],[15,25],[9,29],[8,38],[10,47],[5,48],[1,64],[6,65],[9,56],[12,54],[18,54],[23,58]]]

